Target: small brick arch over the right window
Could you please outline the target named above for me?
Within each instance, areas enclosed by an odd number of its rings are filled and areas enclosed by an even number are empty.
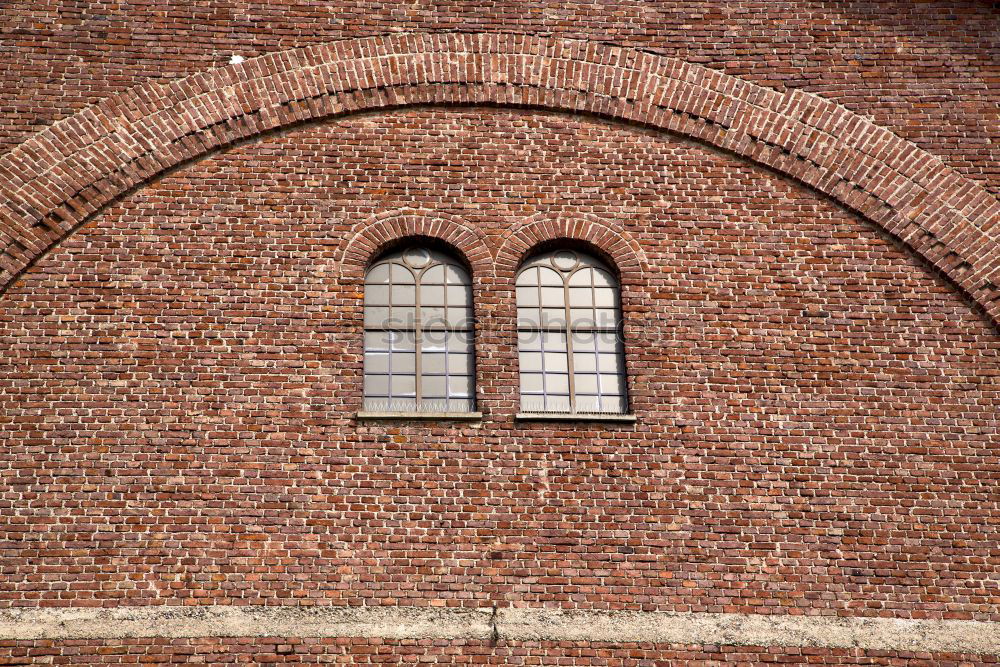
[[[642,284],[648,268],[642,246],[621,225],[590,214],[540,213],[514,223],[504,232],[497,246],[497,273],[514,275],[535,247],[555,239],[585,241],[614,262],[622,286]]]

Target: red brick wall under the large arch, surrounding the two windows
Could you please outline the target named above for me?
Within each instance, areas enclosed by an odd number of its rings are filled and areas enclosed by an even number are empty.
[[[641,239],[638,423],[513,421],[511,275],[487,271],[484,423],[356,423],[337,258],[414,206],[491,247],[540,210]],[[871,225],[704,148],[530,112],[308,127],[137,192],[0,303],[12,604],[995,617],[996,332]]]

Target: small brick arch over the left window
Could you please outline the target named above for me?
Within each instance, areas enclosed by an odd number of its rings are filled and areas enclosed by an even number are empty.
[[[372,258],[408,237],[437,239],[453,247],[468,262],[474,278],[493,274],[493,257],[482,232],[458,216],[413,208],[385,211],[355,224],[335,255],[336,271],[362,281]]]

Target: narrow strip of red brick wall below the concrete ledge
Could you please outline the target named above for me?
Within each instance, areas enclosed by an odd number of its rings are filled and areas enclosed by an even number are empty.
[[[553,657],[558,656],[558,662]],[[675,646],[650,643],[602,644],[378,639],[143,639],[125,642],[64,640],[5,642],[0,664],[388,664],[547,665],[568,667],[681,667],[713,665],[911,665],[973,667],[996,664],[996,656],[955,653],[799,649],[781,646]]]

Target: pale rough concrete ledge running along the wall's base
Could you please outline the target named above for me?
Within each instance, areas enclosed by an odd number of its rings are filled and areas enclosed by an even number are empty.
[[[1000,623],[983,621],[404,606],[0,610],[0,640],[139,637],[652,642],[1000,654]]]

